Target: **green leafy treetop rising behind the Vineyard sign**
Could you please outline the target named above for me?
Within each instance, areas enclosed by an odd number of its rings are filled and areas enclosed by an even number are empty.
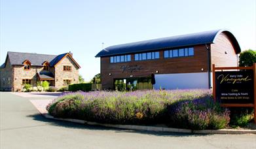
[[[246,67],[252,66],[253,63],[256,63],[256,51],[255,50],[246,50],[242,52],[239,56],[239,66]]]

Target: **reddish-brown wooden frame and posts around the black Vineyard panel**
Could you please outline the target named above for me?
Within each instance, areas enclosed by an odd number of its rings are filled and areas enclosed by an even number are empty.
[[[256,124],[256,63],[253,63],[251,67],[215,67],[212,65],[212,77],[213,77],[213,100],[216,102],[216,84],[215,84],[215,72],[223,70],[253,70],[253,92],[254,92],[254,104],[244,103],[225,103],[221,104],[221,107],[253,107],[254,108],[254,124]]]

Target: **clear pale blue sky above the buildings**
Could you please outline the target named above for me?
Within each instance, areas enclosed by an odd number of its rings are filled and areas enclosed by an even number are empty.
[[[7,51],[73,52],[90,80],[104,47],[213,29],[230,29],[242,50],[256,50],[255,0],[0,0],[0,62]]]

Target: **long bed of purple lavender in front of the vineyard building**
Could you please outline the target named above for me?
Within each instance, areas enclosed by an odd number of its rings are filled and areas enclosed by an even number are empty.
[[[188,129],[221,129],[229,110],[213,103],[210,90],[94,91],[67,93],[47,106],[57,118],[108,124],[166,124]]]

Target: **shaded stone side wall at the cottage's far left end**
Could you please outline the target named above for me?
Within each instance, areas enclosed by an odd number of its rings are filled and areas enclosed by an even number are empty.
[[[0,90],[12,90],[12,66],[7,58],[5,68],[0,69]]]

